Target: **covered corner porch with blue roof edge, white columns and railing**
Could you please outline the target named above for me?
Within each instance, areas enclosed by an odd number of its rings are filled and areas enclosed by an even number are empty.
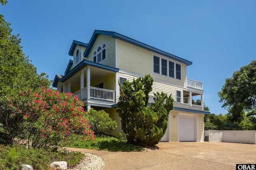
[[[65,76],[59,76],[58,83],[55,83],[60,92],[77,95],[86,105],[86,110],[89,110],[90,106],[111,107],[116,104],[117,68],[87,60],[70,68],[70,71],[66,70]]]

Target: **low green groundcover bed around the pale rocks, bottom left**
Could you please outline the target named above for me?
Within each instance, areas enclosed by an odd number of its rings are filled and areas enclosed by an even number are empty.
[[[66,161],[68,166],[74,166],[83,156],[80,152],[55,152],[51,149],[27,149],[20,145],[0,145],[0,170],[18,170],[22,164],[29,164],[36,170],[49,170],[50,163],[54,161]]]

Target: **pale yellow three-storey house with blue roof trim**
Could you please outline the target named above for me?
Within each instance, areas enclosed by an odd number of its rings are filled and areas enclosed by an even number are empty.
[[[68,54],[73,60],[64,75],[55,76],[53,87],[76,94],[86,110],[104,109],[109,113],[118,123],[110,134],[122,133],[116,113],[118,81],[122,84],[150,74],[154,83],[149,102],[154,102],[154,92],[174,98],[162,141],[204,141],[204,114],[209,112],[203,110],[202,82],[186,76],[186,67],[192,62],[119,33],[100,30],[94,31],[89,43],[73,41]],[[192,104],[192,96],[200,96],[201,106]]]

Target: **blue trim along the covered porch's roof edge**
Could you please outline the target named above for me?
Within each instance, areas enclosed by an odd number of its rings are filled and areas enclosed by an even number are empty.
[[[78,71],[82,70],[82,68],[84,68],[85,66],[94,66],[94,67],[102,68],[102,69],[113,71],[113,72],[118,72],[119,71],[118,68],[102,65],[102,64],[95,63],[95,62],[88,61],[88,60],[84,59],[82,62],[80,62],[78,65],[76,65],[72,70],[70,70],[70,72],[65,74],[65,76],[63,76],[60,79],[60,82],[65,82],[70,77],[74,76],[74,74],[76,74]]]

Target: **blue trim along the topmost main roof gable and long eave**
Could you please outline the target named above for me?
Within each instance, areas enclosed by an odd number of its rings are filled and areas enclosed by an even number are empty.
[[[97,39],[97,37],[98,37],[99,34],[110,35],[110,36],[113,37],[113,38],[120,39],[120,40],[122,40],[122,41],[131,43],[131,44],[133,44],[133,45],[136,45],[136,46],[141,47],[141,48],[144,48],[144,49],[147,49],[147,50],[152,51],[152,52],[154,52],[154,53],[158,53],[158,54],[160,54],[160,55],[164,55],[164,56],[169,57],[169,58],[171,58],[171,59],[174,59],[174,60],[180,61],[180,62],[182,62],[182,63],[185,63],[187,66],[192,64],[191,61],[182,59],[182,58],[180,58],[180,57],[178,57],[178,56],[176,56],[176,55],[172,55],[172,54],[170,54],[170,53],[167,53],[167,52],[165,52],[165,51],[162,51],[162,50],[160,50],[160,49],[157,49],[157,48],[155,48],[155,47],[152,47],[152,46],[150,46],[150,45],[147,45],[147,44],[145,44],[145,43],[142,43],[142,42],[140,42],[140,41],[137,41],[137,40],[135,40],[135,39],[132,39],[132,38],[130,38],[130,37],[126,37],[126,36],[124,36],[124,35],[122,35],[122,34],[119,34],[119,33],[113,32],[113,31],[101,31],[101,30],[95,30],[95,31],[94,31],[94,33],[93,33],[93,35],[92,35],[92,38],[90,39],[90,42],[89,42],[89,44],[88,44],[88,47],[86,48],[86,51],[84,52],[84,57],[88,57],[88,55],[89,55],[89,53],[90,53],[90,51],[91,51],[91,49],[92,49],[92,46],[93,46],[94,42],[96,41],[96,39]]]

